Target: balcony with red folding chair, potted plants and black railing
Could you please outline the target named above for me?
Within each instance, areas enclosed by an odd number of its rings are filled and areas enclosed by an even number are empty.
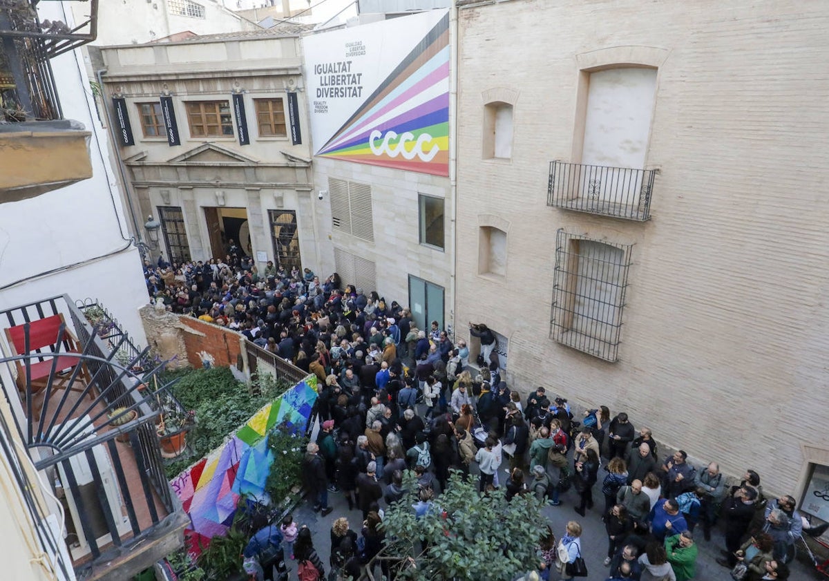
[[[41,332],[49,320],[60,327]],[[65,515],[51,527],[65,524],[62,535],[39,535],[44,552],[65,554],[79,578],[114,581],[181,547],[189,519],[164,476],[153,395],[143,395],[159,370],[148,367],[147,350],[93,327],[65,295],[2,310],[0,321],[0,383],[17,415],[7,428],[16,428],[46,496],[59,499],[51,519]],[[53,342],[42,346],[43,336]],[[125,352],[133,356],[119,363]]]

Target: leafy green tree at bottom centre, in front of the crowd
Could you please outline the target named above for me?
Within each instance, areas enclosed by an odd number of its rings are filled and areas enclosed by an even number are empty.
[[[536,548],[546,527],[534,496],[516,495],[507,502],[502,490],[481,494],[453,472],[446,491],[416,518],[417,483],[411,472],[404,485],[409,493],[383,519],[385,553],[401,561],[414,556],[413,566],[397,579],[503,581],[537,564]]]

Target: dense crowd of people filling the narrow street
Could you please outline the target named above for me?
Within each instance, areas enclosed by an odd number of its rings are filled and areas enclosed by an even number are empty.
[[[383,507],[405,496],[404,473],[414,472],[412,510],[422,514],[453,470],[477,479],[482,493],[503,487],[508,500],[530,494],[560,506],[573,487],[574,514],[601,512],[608,580],[694,579],[697,542],[710,540],[718,520],[720,564],[745,581],[788,579],[802,533],[791,496],[767,499],[752,470],[726,487],[716,462],[693,467],[682,450],[660,458],[651,430],[634,428],[624,412],[611,417],[599,406],[576,421],[567,400],[543,387],[522,401],[502,380],[496,337],[484,324],[469,324],[481,345],[471,366],[465,341],[452,341],[439,322],[419,329],[409,309],[343,286],[337,274],[321,282],[309,269],[288,273],[271,262],[260,274],[233,253],[207,263],[159,259],[145,274],[156,302],[236,329],[318,376],[321,429],[308,443],[304,486],[322,516],[332,511],[329,494],[344,495],[362,526],[357,535],[346,517],[336,520],[326,567],[308,529],[286,521],[279,536],[303,568],[300,579],[326,570],[329,579],[356,579],[383,546]],[[594,488],[603,498],[594,499]],[[570,520],[556,542],[546,529],[525,579],[578,575],[581,530]]]

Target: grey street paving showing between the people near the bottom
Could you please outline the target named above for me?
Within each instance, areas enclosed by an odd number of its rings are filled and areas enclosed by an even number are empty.
[[[502,477],[502,484],[506,482],[507,474],[503,472],[499,475]],[[601,479],[599,479],[601,480]],[[597,483],[594,487],[594,499],[597,500],[597,506],[603,504],[601,494],[601,483]],[[328,501],[330,506],[334,508],[331,514],[320,517],[315,513],[308,501],[298,506],[293,513],[294,519],[300,525],[308,525],[313,532],[314,546],[320,555],[320,558],[326,565],[326,574],[328,572],[328,554],[330,551],[330,535],[329,531],[334,520],[339,516],[347,516],[351,529],[356,530],[359,534],[361,528],[361,513],[358,510],[349,511],[344,496],[340,493],[329,493]],[[594,507],[592,511],[588,511],[587,516],[580,518],[573,510],[574,504],[578,501],[578,495],[571,489],[561,496],[560,506],[546,506],[544,509],[544,516],[555,531],[556,538],[560,538],[564,531],[565,524],[568,520],[578,520],[584,527],[582,535],[582,546],[584,547],[584,559],[587,562],[589,570],[589,577],[591,581],[603,581],[607,578],[608,569],[604,567],[603,561],[608,548],[607,536],[604,533],[604,524],[600,520],[600,508]],[[698,535],[697,544],[700,549],[700,556],[697,559],[697,581],[730,581],[731,576],[728,569],[720,567],[716,564],[715,559],[720,556],[720,549],[725,547],[723,535],[719,530],[714,530],[710,541],[702,539],[702,535]],[[799,550],[799,549],[798,549]],[[288,561],[288,568],[291,570],[291,579],[296,579],[296,564]],[[555,573],[551,576],[555,578]],[[792,564],[792,575],[789,578],[792,581],[799,581],[802,579],[825,579],[812,568],[801,562]],[[509,580],[505,580],[509,581]]]

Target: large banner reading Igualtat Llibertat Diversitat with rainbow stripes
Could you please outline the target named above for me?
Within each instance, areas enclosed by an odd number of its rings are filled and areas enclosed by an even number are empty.
[[[449,175],[449,14],[303,40],[316,155]]]

